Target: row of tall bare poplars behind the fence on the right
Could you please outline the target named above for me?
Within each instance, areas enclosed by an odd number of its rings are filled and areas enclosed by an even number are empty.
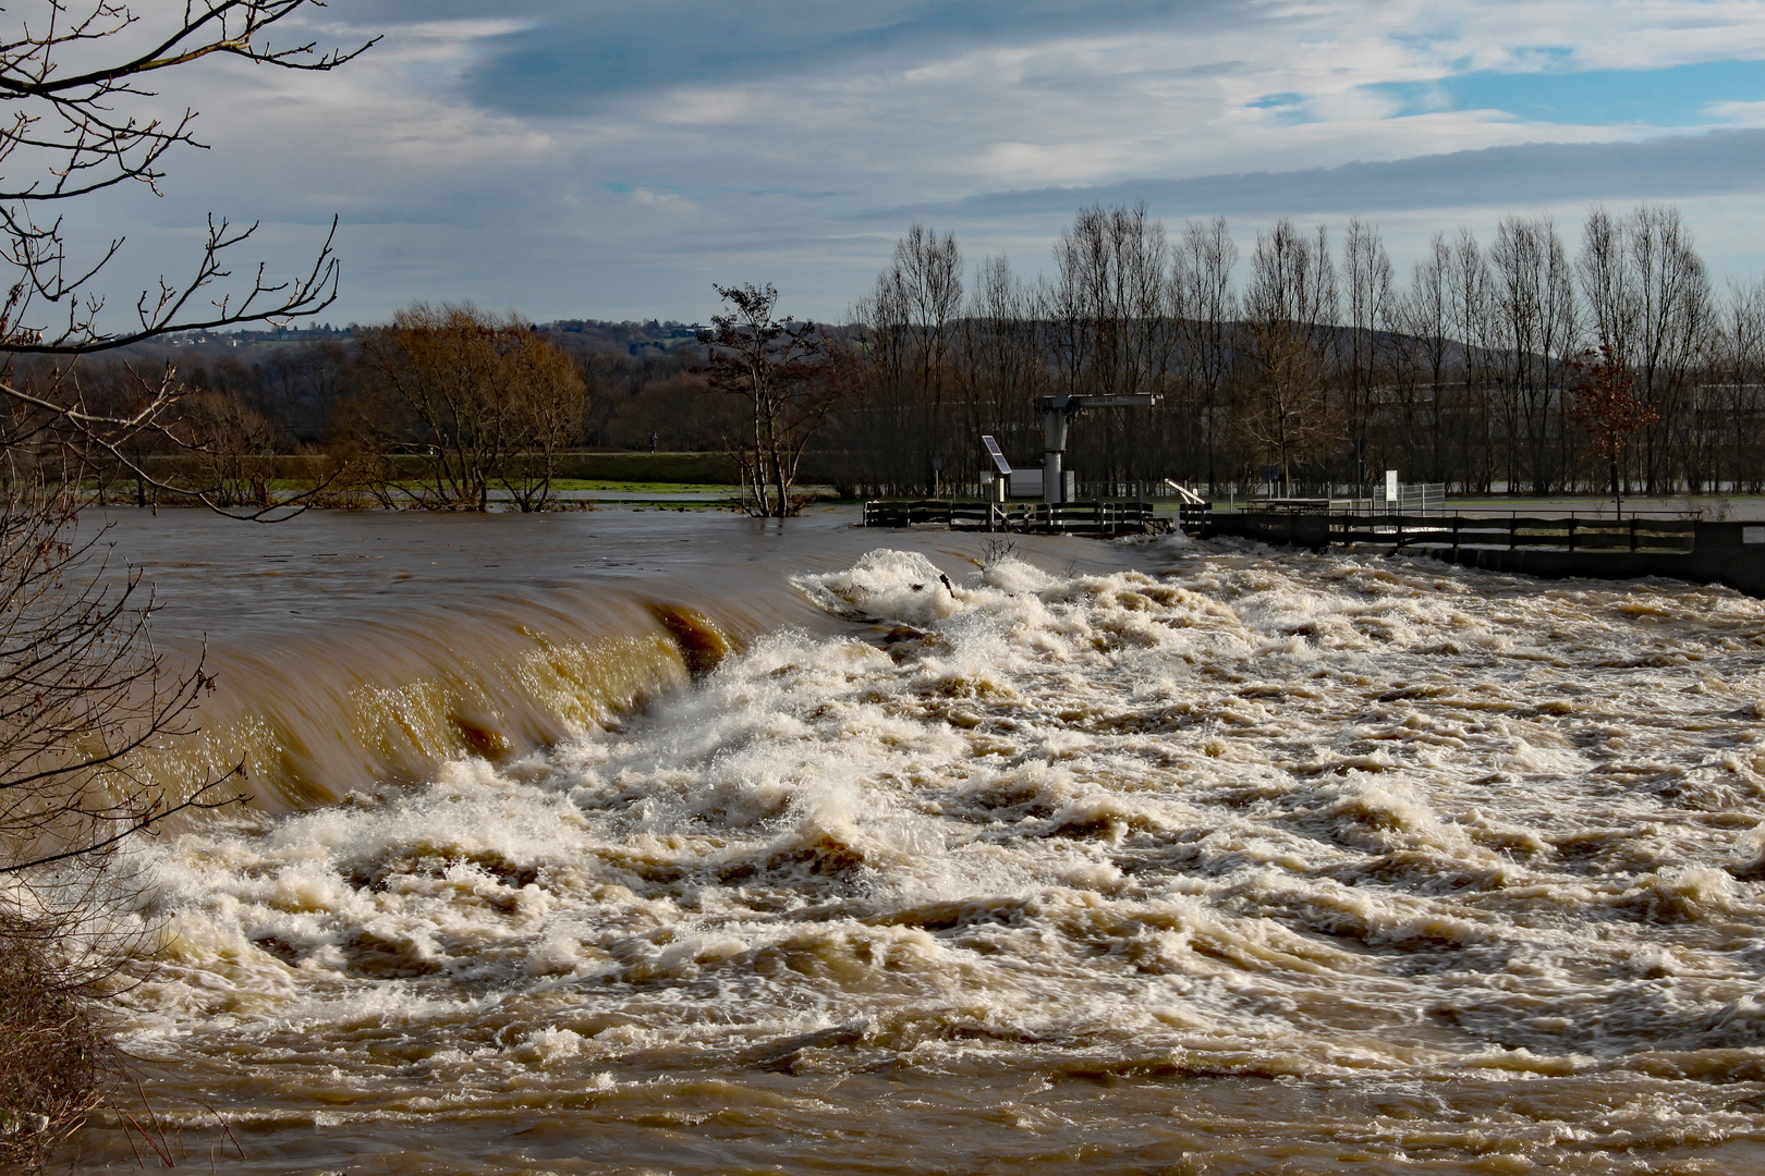
[[[1433,234],[1400,282],[1377,226],[1280,220],[1243,257],[1223,219],[1172,238],[1137,208],[1080,210],[1054,275],[969,272],[914,226],[852,309],[842,404],[821,444],[858,487],[973,483],[980,434],[1040,464],[1041,395],[1154,393],[1080,418],[1068,467],[1094,483],[1223,492],[1405,481],[1454,492],[1765,485],[1765,282],[1717,289],[1677,208],[1596,208],[1567,240],[1507,217]],[[1613,453],[1578,391],[1633,406]],[[1103,487],[1100,487],[1103,488]]]

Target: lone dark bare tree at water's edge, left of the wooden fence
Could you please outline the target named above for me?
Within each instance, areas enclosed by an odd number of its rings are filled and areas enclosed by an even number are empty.
[[[731,310],[699,333],[710,390],[748,400],[752,435],[738,450],[745,480],[757,513],[784,518],[801,508],[794,490],[803,450],[838,398],[828,346],[814,323],[773,317],[778,291],[770,282],[715,289]]]

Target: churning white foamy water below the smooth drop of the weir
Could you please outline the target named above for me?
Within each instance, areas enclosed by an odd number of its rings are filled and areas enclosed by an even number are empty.
[[[1410,1121],[1364,1171],[1754,1148],[1765,605],[1179,554],[877,550],[794,578],[844,633],[757,636],[687,688],[651,622],[664,668],[604,695],[637,711],[498,756],[438,741],[418,786],[146,848],[164,963],[134,1049],[348,1105],[240,1095],[242,1123],[422,1132],[455,1164],[487,1121],[581,1134],[634,1084],[741,1107],[798,1076],[860,1123],[890,1074],[1110,1079],[1167,1125],[1135,1083],[1350,1083],[1333,1114]],[[1340,1157],[1308,1097],[1234,1146]]]

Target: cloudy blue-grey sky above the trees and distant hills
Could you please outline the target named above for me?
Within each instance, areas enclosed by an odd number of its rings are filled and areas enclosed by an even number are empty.
[[[171,5],[159,5],[171,7]],[[154,7],[143,5],[152,19]],[[208,150],[72,224],[127,238],[116,305],[208,213],[295,273],[332,215],[321,319],[415,300],[533,321],[702,321],[713,282],[840,319],[913,222],[1052,273],[1089,203],[1488,238],[1677,203],[1717,279],[1765,273],[1765,0],[332,0],[332,74],[201,62],[164,109]]]

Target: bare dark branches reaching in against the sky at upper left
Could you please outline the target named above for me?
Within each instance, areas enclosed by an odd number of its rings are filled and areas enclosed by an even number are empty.
[[[321,51],[277,42],[277,26],[321,0],[187,0],[150,16],[116,0],[37,0],[5,12],[0,26],[0,450],[18,462],[74,453],[85,464],[120,465],[169,494],[221,508],[208,487],[173,485],[139,460],[143,435],[175,450],[203,446],[176,427],[184,397],[176,370],[132,370],[127,398],[92,402],[78,356],[113,351],[171,331],[281,323],[314,314],[337,291],[332,234],[312,264],[275,279],[259,264],[237,266],[256,224],[210,215],[184,277],[161,277],[134,305],[111,310],[106,268],[124,242],[69,238],[67,201],[125,183],[157,194],[168,153],[201,146],[196,113],[161,115],[148,88],[169,69],[207,56],[244,58],[295,71],[330,71],[367,46]],[[49,356],[48,377],[19,377],[21,356]],[[258,508],[252,517],[263,517]]]

